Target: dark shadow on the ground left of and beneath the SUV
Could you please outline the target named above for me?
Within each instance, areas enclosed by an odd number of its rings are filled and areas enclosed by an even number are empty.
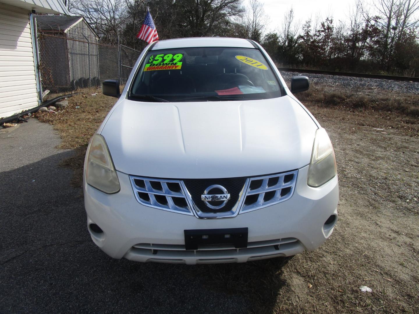
[[[72,154],[0,173],[1,313],[272,311],[280,259],[189,266],[108,257],[90,239],[72,171],[57,167]]]

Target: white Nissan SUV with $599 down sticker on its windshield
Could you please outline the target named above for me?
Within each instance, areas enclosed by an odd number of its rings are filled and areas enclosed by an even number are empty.
[[[291,91],[308,89],[293,77]],[[254,41],[158,41],[92,137],[88,230],[114,258],[230,263],[314,250],[339,198],[332,144]]]

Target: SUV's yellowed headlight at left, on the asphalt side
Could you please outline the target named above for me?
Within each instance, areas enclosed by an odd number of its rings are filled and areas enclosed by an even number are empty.
[[[120,190],[118,176],[103,136],[93,135],[87,154],[86,182],[104,193],[118,193]]]

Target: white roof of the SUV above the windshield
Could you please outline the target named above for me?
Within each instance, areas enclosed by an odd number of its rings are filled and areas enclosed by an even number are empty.
[[[254,48],[247,39],[228,37],[193,37],[158,41],[151,50],[191,47],[235,47]]]

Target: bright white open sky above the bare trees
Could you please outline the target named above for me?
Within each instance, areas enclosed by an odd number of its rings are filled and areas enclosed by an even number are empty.
[[[315,19],[320,14],[324,20],[328,15],[332,15],[334,21],[347,21],[349,17],[349,8],[353,7],[355,0],[259,0],[264,4],[265,13],[269,16],[269,30],[274,31],[282,25],[284,14],[292,6],[294,10],[295,21],[300,20],[303,25],[310,16]]]

